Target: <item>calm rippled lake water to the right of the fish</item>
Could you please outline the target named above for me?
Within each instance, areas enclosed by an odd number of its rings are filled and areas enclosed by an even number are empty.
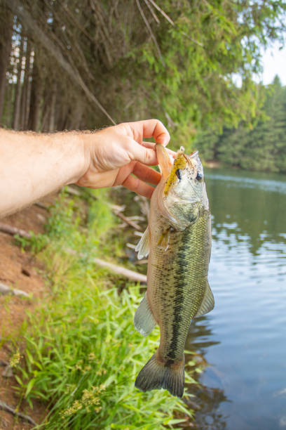
[[[186,348],[210,364],[200,430],[286,429],[286,176],[207,171],[215,308]]]

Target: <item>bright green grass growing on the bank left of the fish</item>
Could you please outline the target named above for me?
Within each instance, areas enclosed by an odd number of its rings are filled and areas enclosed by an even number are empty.
[[[42,248],[51,291],[27,322],[19,391],[31,404],[32,398],[47,402],[45,429],[179,428],[182,419],[174,414],[184,419],[192,412],[182,400],[135,389],[137,373],[158,347],[159,330],[144,338],[133,327],[143,295],[139,285],[126,282],[118,294],[118,278],[93,263],[94,256],[120,254],[123,235],[107,193],[95,197],[88,198],[86,212],[80,199],[63,193],[41,246],[36,237],[29,241],[38,252]]]

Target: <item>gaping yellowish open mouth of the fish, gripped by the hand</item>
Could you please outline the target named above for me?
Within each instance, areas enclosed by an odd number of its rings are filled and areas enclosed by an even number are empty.
[[[184,146],[181,146],[177,151],[174,160],[171,160],[168,151],[163,145],[156,145],[158,164],[161,169],[161,174],[165,179],[164,196],[168,195],[172,185],[180,181],[180,171],[196,167],[194,157],[198,155],[198,151],[192,152],[191,155],[185,154]]]

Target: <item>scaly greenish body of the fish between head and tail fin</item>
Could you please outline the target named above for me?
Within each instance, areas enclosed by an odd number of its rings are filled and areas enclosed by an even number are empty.
[[[148,274],[152,288],[147,297],[161,329],[158,353],[162,359],[182,360],[189,325],[203,300],[210,259],[209,221],[206,211],[193,226],[171,233],[167,252],[151,247],[149,258],[156,263]]]

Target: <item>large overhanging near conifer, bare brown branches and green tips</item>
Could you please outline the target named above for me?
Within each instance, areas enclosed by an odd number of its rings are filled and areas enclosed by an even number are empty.
[[[30,127],[95,128],[156,116],[168,119],[178,145],[209,125],[253,122],[261,88],[252,72],[261,44],[281,37],[286,11],[282,0],[0,2],[20,21],[35,62],[41,53]],[[55,87],[55,109],[47,112],[41,107],[50,106],[48,89]]]

